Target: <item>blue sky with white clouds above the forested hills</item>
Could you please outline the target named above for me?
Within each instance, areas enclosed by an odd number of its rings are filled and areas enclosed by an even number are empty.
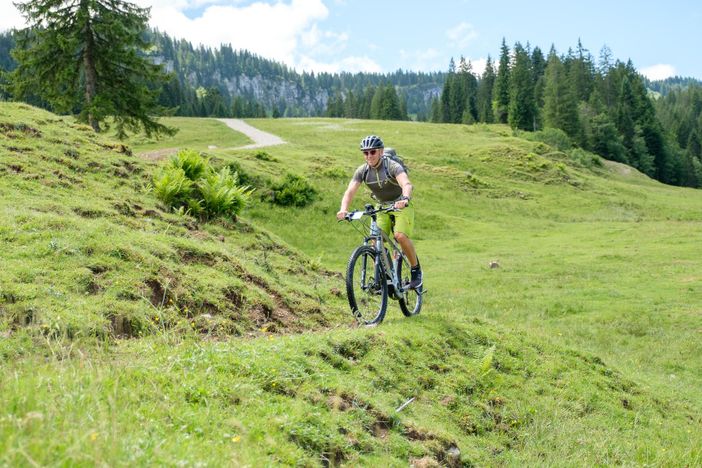
[[[692,0],[133,0],[152,8],[151,24],[177,38],[231,43],[298,71],[445,70],[463,55],[481,71],[529,42],[548,52],[575,48],[597,58],[607,45],[653,78],[702,79],[702,2]],[[0,0],[0,29],[22,26]]]

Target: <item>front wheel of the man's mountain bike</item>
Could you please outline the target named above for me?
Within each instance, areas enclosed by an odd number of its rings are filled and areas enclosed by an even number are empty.
[[[362,245],[351,254],[346,268],[346,295],[356,320],[377,325],[385,318],[388,285],[378,252]]]

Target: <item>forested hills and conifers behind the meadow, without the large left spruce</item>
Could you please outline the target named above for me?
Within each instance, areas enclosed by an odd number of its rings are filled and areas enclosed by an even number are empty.
[[[230,45],[212,49],[158,31],[145,35],[152,44],[146,53],[170,74],[159,103],[179,116],[508,123],[546,131],[561,146],[631,165],[664,183],[702,185],[700,82],[648,81],[606,46],[596,60],[580,41],[575,50],[559,54],[552,47],[545,55],[503,40],[498,60],[488,57],[480,75],[463,57],[458,64],[451,59],[446,73],[315,74]],[[11,33],[0,35],[0,67],[13,68],[13,46]]]

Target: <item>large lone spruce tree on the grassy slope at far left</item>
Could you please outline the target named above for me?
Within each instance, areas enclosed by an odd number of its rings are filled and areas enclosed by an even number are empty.
[[[16,4],[29,27],[18,37],[13,94],[37,94],[58,112],[100,131],[108,117],[126,130],[172,133],[153,116],[167,77],[140,51],[149,10],[125,0],[27,0]]]

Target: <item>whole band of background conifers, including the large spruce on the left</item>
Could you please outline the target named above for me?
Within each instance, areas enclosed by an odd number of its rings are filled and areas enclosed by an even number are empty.
[[[665,183],[702,185],[700,83],[647,82],[606,46],[596,63],[580,41],[544,55],[503,39],[480,76],[463,57],[446,73],[297,73],[149,30],[149,10],[125,0],[17,5],[30,26],[0,34],[0,97],[77,115],[96,131],[169,132],[154,118],[164,113],[503,123],[561,132]]]

